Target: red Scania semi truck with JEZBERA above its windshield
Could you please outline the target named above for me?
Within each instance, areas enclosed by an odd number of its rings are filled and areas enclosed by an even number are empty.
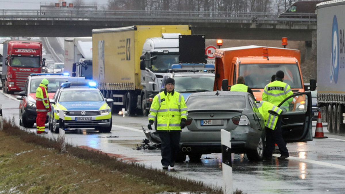
[[[22,91],[26,78],[32,73],[40,73],[45,64],[42,59],[42,42],[3,42],[2,90],[4,93]]]

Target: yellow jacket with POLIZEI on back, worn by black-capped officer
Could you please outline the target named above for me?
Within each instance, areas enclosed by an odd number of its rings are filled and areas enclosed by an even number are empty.
[[[285,98],[293,95],[290,86],[283,81],[273,81],[266,85],[264,92],[262,93],[262,100],[268,101],[278,106]],[[289,102],[292,99],[286,101],[283,106],[289,106]]]

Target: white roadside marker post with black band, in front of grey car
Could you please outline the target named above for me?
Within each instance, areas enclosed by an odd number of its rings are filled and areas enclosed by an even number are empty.
[[[231,135],[230,132],[221,129],[221,160],[223,169],[223,193],[233,193],[233,167],[231,163]]]

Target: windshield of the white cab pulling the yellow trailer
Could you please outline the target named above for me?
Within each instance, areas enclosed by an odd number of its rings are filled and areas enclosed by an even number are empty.
[[[151,60],[151,70],[153,72],[166,72],[171,69],[172,64],[179,63],[178,54],[154,54],[154,56],[156,57]]]

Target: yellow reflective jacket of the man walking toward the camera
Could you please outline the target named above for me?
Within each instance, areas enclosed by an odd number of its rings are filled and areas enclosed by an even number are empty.
[[[149,120],[157,119],[157,130],[181,130],[181,119],[187,119],[185,98],[178,92],[157,94],[151,104]]]

